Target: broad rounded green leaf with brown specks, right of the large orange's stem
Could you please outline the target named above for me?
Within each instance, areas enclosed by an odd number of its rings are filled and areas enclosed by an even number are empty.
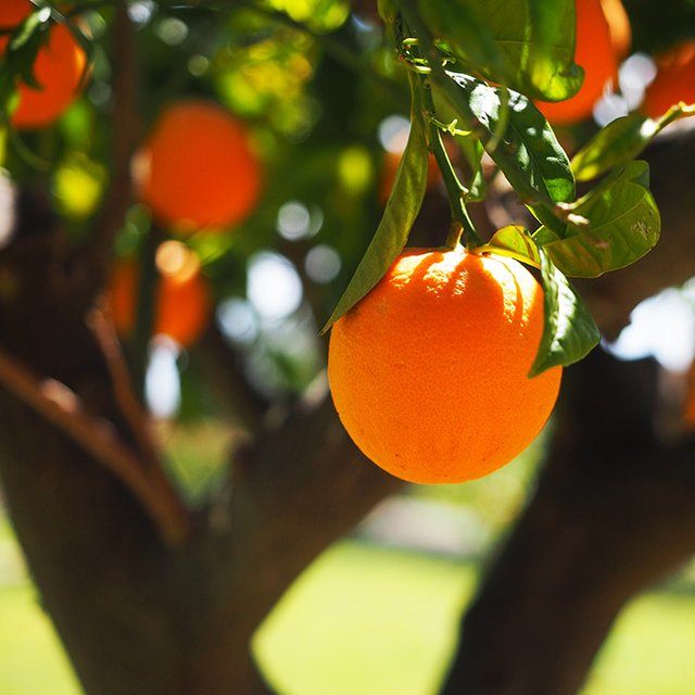
[[[564,239],[544,228],[534,238],[569,276],[597,277],[630,265],[659,239],[659,211],[647,186],[647,163],[630,162],[571,206],[587,225],[570,226],[573,233]]]

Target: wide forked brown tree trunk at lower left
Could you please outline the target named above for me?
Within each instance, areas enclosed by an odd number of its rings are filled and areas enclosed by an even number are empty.
[[[41,228],[0,252],[0,480],[42,605],[86,693],[268,692],[253,632],[400,483],[324,395],[260,424],[225,489],[184,508],[87,327],[98,286],[59,239]]]

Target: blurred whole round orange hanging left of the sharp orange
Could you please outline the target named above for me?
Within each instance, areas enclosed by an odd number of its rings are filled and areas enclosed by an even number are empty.
[[[142,202],[184,232],[240,223],[256,205],[261,178],[245,128],[204,100],[165,108],[135,161]]]

